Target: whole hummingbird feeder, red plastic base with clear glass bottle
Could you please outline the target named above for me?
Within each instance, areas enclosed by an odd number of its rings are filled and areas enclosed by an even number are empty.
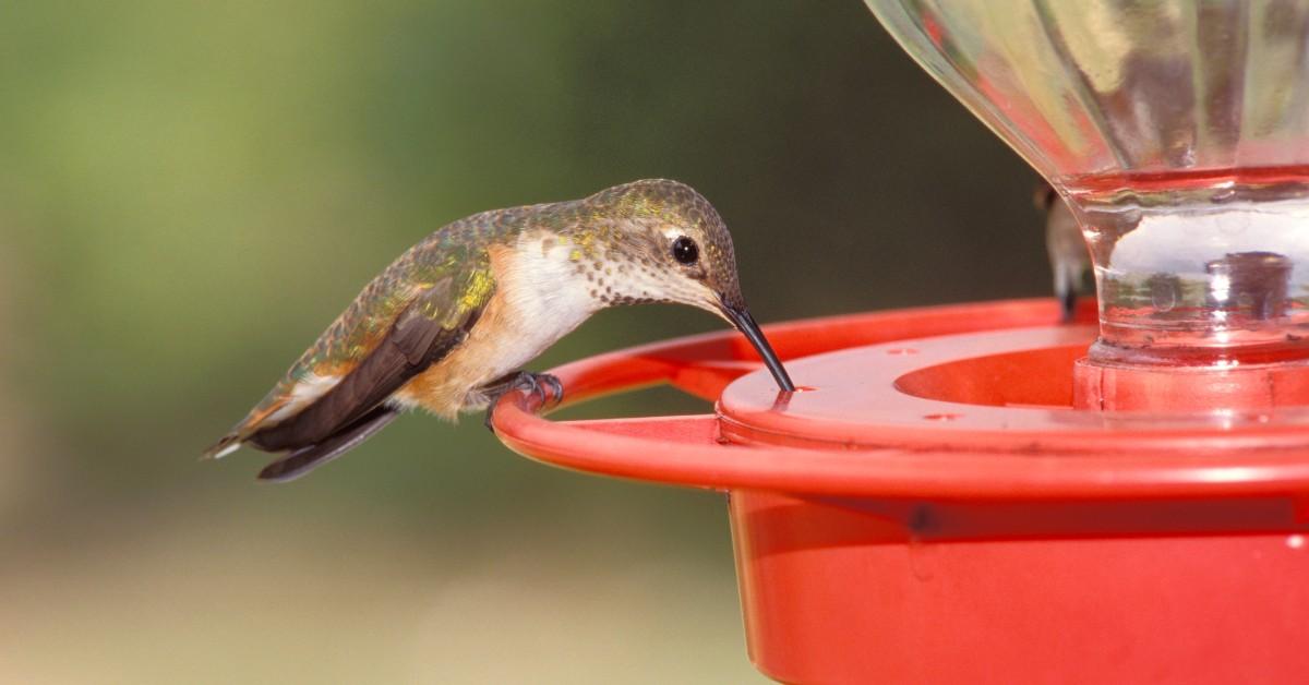
[[[555,373],[715,414],[514,394],[499,435],[729,492],[781,681],[1309,681],[1309,9],[867,1],[1067,202],[1098,329],[1052,301],[771,326],[788,394],[734,333],[673,341]]]

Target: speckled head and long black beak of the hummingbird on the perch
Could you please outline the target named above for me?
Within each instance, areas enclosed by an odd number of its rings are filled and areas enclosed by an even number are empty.
[[[576,241],[593,248],[585,268],[597,297],[712,312],[745,334],[783,390],[795,390],[746,308],[732,236],[708,200],[685,183],[653,179],[602,190],[580,206]]]

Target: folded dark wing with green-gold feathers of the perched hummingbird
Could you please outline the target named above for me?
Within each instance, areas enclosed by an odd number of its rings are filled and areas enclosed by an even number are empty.
[[[462,342],[493,292],[486,250],[416,245],[373,279],[206,456],[242,441],[283,451],[326,439]]]

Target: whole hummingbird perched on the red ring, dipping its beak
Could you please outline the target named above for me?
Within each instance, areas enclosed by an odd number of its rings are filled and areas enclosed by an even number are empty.
[[[454,419],[509,390],[559,402],[563,386],[522,371],[596,312],[679,303],[712,312],[795,385],[750,316],[732,236],[685,183],[647,179],[579,200],[475,213],[437,229],[377,275],[271,392],[209,447],[280,456],[262,481],[331,461],[408,409]]]

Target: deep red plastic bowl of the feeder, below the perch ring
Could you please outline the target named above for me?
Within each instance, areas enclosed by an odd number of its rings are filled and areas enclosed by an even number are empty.
[[[750,656],[783,682],[1225,684],[1309,673],[1300,533],[1041,536],[1033,527],[1058,523],[1018,521],[1034,509],[755,491],[732,492],[730,511]],[[1064,513],[1138,528],[1192,515],[1220,528],[1299,528],[1289,502]],[[991,537],[979,519],[1009,534]],[[932,530],[915,533],[923,527]]]

